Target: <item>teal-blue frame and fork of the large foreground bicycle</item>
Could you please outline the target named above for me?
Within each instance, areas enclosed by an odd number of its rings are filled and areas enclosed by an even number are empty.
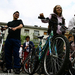
[[[52,42],[51,39],[52,39],[52,37],[53,37],[53,31],[51,31],[51,33],[50,33],[49,37],[47,38],[47,41],[44,44],[42,49],[41,49],[42,42],[40,41],[39,46],[37,47],[37,48],[39,48],[39,55],[38,55],[39,61],[44,57],[47,45],[49,45],[49,53],[50,53],[50,55],[52,55],[52,52],[51,52],[51,42]],[[52,56],[54,56],[54,57],[57,56],[56,46],[55,46],[55,53],[56,53],[56,55],[52,55]]]

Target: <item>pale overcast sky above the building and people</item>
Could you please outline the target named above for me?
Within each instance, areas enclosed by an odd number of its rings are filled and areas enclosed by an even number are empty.
[[[48,17],[55,5],[61,5],[68,26],[75,14],[75,0],[0,0],[0,22],[13,20],[13,12],[19,11],[19,19],[23,20],[24,25],[47,27],[48,24],[42,23],[38,16],[44,13]]]

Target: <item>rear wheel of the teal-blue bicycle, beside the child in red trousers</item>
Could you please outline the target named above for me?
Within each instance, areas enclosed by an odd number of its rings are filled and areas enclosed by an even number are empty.
[[[24,71],[28,74],[35,73],[36,57],[31,53],[24,61]]]

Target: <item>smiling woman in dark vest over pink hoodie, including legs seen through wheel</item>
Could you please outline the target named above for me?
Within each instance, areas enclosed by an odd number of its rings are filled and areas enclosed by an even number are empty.
[[[41,13],[40,17],[44,18],[44,14]],[[65,30],[62,28],[62,26],[65,26],[65,19],[62,16],[62,7],[60,5],[56,5],[53,8],[53,14],[50,14],[48,18],[51,21],[45,20],[45,19],[41,20],[43,23],[49,23],[49,25],[48,25],[48,34],[50,34],[51,27],[52,27],[54,36],[64,35]],[[62,43],[62,40],[58,40],[57,43],[58,43],[57,50],[59,50],[58,54],[60,54],[63,51],[62,49],[63,49],[64,44]],[[60,46],[60,44],[62,44],[62,45]]]

